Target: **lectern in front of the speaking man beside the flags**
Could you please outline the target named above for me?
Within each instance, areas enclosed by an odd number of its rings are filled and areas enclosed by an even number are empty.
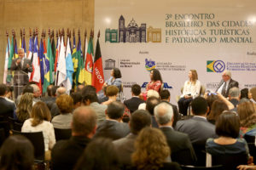
[[[8,71],[8,77],[12,77],[8,83],[14,87],[17,99],[18,95],[22,94],[23,87],[28,84],[28,74],[25,71]]]

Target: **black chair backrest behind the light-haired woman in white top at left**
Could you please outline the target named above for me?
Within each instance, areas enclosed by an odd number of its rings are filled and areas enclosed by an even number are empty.
[[[13,130],[14,134],[20,134],[25,136],[31,141],[34,146],[34,156],[35,160],[44,161],[44,135],[43,132],[36,133],[21,133],[19,131]]]

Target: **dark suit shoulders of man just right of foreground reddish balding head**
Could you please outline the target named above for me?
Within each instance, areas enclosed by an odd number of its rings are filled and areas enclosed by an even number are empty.
[[[105,120],[98,125],[93,138],[104,137],[116,140],[124,138],[128,133],[130,128],[127,123]]]

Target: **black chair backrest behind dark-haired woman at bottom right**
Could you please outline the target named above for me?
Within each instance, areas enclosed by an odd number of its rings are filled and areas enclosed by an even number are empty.
[[[247,154],[218,154],[212,156],[213,165],[223,165],[224,169],[236,169],[239,165],[247,165]]]

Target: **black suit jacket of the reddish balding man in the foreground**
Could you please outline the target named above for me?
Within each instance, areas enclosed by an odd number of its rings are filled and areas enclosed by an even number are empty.
[[[73,169],[89,142],[90,139],[84,136],[58,141],[51,150],[52,169]]]

